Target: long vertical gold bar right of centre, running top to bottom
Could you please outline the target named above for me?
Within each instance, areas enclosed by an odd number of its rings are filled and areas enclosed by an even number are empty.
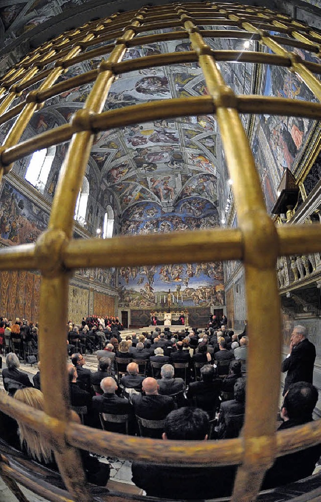
[[[188,18],[180,10],[182,21]],[[255,168],[246,133],[237,114],[236,96],[224,82],[215,60],[207,55],[207,44],[201,34],[195,32],[194,24],[187,19],[184,23],[190,32],[193,49],[200,54],[199,64],[203,70],[209,94],[216,104],[216,118],[220,127],[227,166],[233,179],[233,193],[236,201],[239,228],[244,243],[244,268],[246,276],[246,296],[248,312],[248,330],[252,341],[247,360],[248,381],[246,391],[246,411],[244,423],[244,442],[246,445],[242,466],[237,472],[232,495],[232,502],[245,502],[247,495],[256,496],[266,468],[274,458],[275,426],[279,395],[279,364],[281,341],[271,341],[269,355],[264,352],[264,338],[269,334],[269,326],[262,326],[267,306],[273,312],[276,333],[280,333],[280,306],[277,299],[270,304],[268,298],[278,295],[275,274],[277,257],[277,234],[269,219],[263,199],[260,179]],[[233,137],[230,132],[233,131]],[[244,169],[246,166],[246,169]],[[255,234],[253,229],[256,229]],[[254,239],[254,241],[253,241]],[[254,244],[254,246],[253,246]],[[269,256],[264,256],[264,249],[269,248]],[[255,250],[255,251],[254,251]],[[263,252],[263,255],[262,255]],[[264,258],[263,258],[264,256]],[[262,259],[263,258],[263,259]],[[253,288],[253,284],[255,287]],[[250,286],[251,285],[251,286]],[[259,305],[257,298],[261,298]],[[263,335],[264,332],[264,335]],[[268,360],[267,360],[268,359]],[[260,360],[261,365],[257,363]],[[265,368],[269,365],[271,378],[264,378]],[[255,397],[264,395],[266,399],[254,417]],[[257,438],[260,437],[260,441]],[[264,440],[261,440],[264,437]],[[255,453],[260,451],[261,463],[258,465]],[[250,486],[250,488],[249,488]]]

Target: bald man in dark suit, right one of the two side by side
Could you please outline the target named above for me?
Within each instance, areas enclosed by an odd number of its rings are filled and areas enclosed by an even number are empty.
[[[164,420],[176,408],[174,400],[168,395],[158,394],[159,386],[155,378],[147,377],[142,382],[143,394],[132,397],[132,406],[135,415],[147,420]],[[159,431],[149,437],[161,437]]]

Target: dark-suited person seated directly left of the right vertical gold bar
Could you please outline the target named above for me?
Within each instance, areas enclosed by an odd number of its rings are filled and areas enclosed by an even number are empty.
[[[234,384],[234,399],[221,404],[218,419],[218,439],[237,438],[244,423],[245,378],[238,378]]]

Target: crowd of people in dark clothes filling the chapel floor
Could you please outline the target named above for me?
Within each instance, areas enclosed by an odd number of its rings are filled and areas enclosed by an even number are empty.
[[[204,331],[181,326],[173,332],[173,327],[162,331],[155,326],[150,332],[121,337],[116,321],[116,318],[88,317],[81,325],[68,323],[70,360],[66,371],[70,406],[75,412],[81,410],[85,425],[163,440],[216,440],[242,434],[249,343],[246,335],[237,335],[225,325],[219,329],[209,326]],[[97,371],[85,368],[87,351],[96,352]],[[287,378],[280,430],[312,420],[318,398],[312,385],[314,359],[315,348],[307,340],[305,328],[296,326],[290,353],[281,367],[287,371]],[[3,380],[8,393],[21,400],[25,394],[29,400],[32,396],[36,401],[34,406],[42,409],[42,404],[37,404],[43,400],[41,363],[38,362],[39,371],[33,382],[19,370],[16,354],[9,353],[6,364]],[[126,420],[120,423],[108,419],[115,415],[125,416]],[[157,422],[157,427],[151,427],[149,421]],[[16,430],[21,427],[17,424]],[[28,435],[21,434],[20,439],[29,455],[55,467],[52,451],[42,456],[29,445]],[[320,454],[321,445],[316,445],[279,457],[266,472],[263,488],[311,474]],[[82,453],[87,479],[103,485],[108,481],[109,468],[103,468],[96,458],[91,461],[92,458]],[[235,465],[200,467],[191,472],[186,467],[173,470],[164,465],[133,462],[132,480],[147,495],[159,498],[197,498],[200,486],[205,498],[228,496],[236,468]],[[99,473],[96,478],[93,471]]]

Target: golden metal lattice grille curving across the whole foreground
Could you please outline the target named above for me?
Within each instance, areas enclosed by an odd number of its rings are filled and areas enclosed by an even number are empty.
[[[235,29],[205,30],[206,25]],[[140,35],[142,32],[146,34]],[[211,37],[252,39],[269,51],[215,51],[204,40]],[[284,37],[287,48],[283,47]],[[177,38],[188,39],[192,50],[122,61],[127,48]],[[0,124],[15,120],[0,150],[2,175],[10,171],[13,162],[35,150],[66,141],[70,144],[61,167],[48,229],[34,244],[0,250],[1,270],[39,269],[42,274],[40,359],[45,413],[26,408],[16,401],[13,403],[4,394],[0,398],[0,408],[50,436],[59,469],[76,500],[88,501],[90,495],[84,487],[84,474],[75,447],[122,458],[149,462],[162,460],[168,464],[209,466],[237,463],[239,469],[232,500],[241,502],[256,498],[264,472],[275,456],[320,440],[320,422],[301,426],[300,434],[296,436],[292,431],[276,435],[274,425],[281,354],[276,259],[281,255],[320,251],[320,227],[274,226],[266,212],[260,179],[239,114],[268,113],[319,120],[321,105],[282,97],[235,95],[216,64],[217,61],[238,60],[284,66],[295,72],[320,101],[321,85],[317,75],[321,73],[321,65],[288,51],[288,47],[297,47],[319,55],[320,42],[318,32],[267,9],[211,2],[173,3],[116,13],[59,35],[28,54],[1,79]],[[107,60],[102,60],[96,69],[55,83],[76,62],[106,54]],[[161,99],[102,112],[110,86],[118,74],[182,62],[198,62],[208,95]],[[29,121],[46,100],[89,82],[93,85],[83,109],[72,116],[70,123],[20,142]],[[34,89],[26,98],[11,107],[15,98],[31,85]],[[233,180],[238,227],[184,234],[114,237],[95,240],[94,245],[92,239],[73,240],[74,209],[94,135],[98,131],[150,119],[197,114],[216,116],[229,175]],[[65,324],[71,271],[79,267],[232,259],[244,263],[251,339],[243,436],[220,442],[164,443],[71,425],[65,364]],[[267,312],[269,319],[273,319],[272,337],[270,324],[263,321]],[[55,337],[51,328],[54,325]],[[268,351],[266,337],[269,337]]]

